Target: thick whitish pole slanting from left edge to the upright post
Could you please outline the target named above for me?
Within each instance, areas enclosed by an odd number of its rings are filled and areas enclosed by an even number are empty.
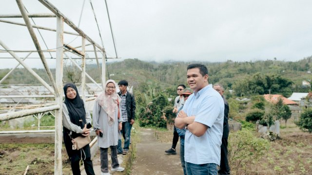
[[[56,109],[59,109],[59,105],[40,107],[36,109],[27,109],[27,110],[22,110],[22,111],[17,111],[17,112],[8,112],[8,113],[0,114],[0,122],[11,120],[11,119],[16,119],[20,117],[25,117],[25,116],[29,116],[33,114],[38,114],[42,112],[47,112],[51,110],[56,110]]]

